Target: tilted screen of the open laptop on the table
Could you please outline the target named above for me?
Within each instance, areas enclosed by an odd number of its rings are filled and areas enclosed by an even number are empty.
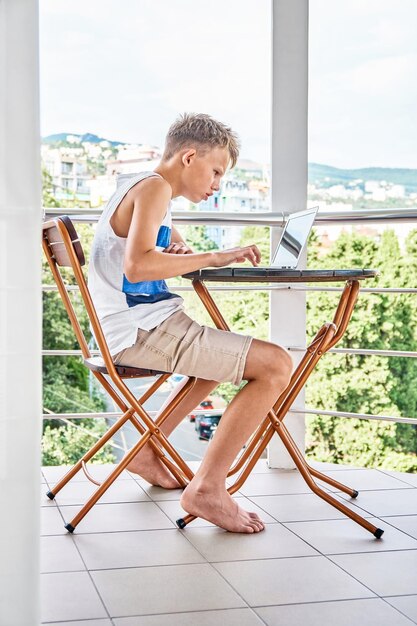
[[[316,217],[318,207],[299,211],[288,217],[281,235],[272,267],[296,268],[301,252],[307,243],[308,236]]]

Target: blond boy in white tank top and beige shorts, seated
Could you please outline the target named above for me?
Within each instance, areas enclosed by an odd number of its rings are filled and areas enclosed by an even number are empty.
[[[116,364],[197,378],[164,422],[165,435],[220,382],[248,381],[225,410],[181,506],[226,530],[253,533],[264,529],[263,522],[237,505],[225,479],[239,450],[288,384],[291,359],[275,344],[200,326],[164,280],[245,260],[258,265],[256,245],[194,253],[171,223],[171,199],[206,200],[220,188],[238,154],[238,139],[230,128],[205,114],[181,116],[168,131],[158,167],[121,177],[97,226],[89,286]],[[179,487],[149,445],[128,469],[153,485]]]

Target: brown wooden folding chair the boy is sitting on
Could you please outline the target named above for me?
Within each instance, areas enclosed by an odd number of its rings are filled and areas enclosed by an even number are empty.
[[[108,429],[108,431],[86,454],[84,454],[74,467],[70,469],[67,474],[65,474],[65,476],[54,486],[54,488],[47,493],[48,497],[53,500],[57,493],[81,469],[84,471],[87,478],[97,485],[97,489],[77,513],[74,519],[65,525],[65,528],[72,533],[75,527],[88,513],[92,506],[94,506],[97,500],[123,472],[139,450],[141,450],[141,448],[148,442],[152,445],[156,454],[169,469],[172,475],[178,480],[180,485],[186,486],[187,483],[193,478],[193,472],[169,443],[160,427],[171,412],[192,389],[195,384],[195,378],[189,378],[187,383],[160,413],[158,418],[156,420],[152,420],[147,411],[143,408],[143,404],[153,393],[155,393],[162,383],[169,378],[172,372],[159,372],[136,367],[114,365],[82,270],[82,266],[85,265],[85,257],[81,242],[70,218],[68,216],[61,216],[44,222],[42,225],[42,235],[43,250],[55,282],[58,286],[58,291],[61,295],[65,309],[70,318],[77,341],[80,345],[84,358],[84,364],[93,373],[95,378],[102,385],[103,389],[107,391],[122,411],[122,415],[117,419],[115,424]],[[88,341],[84,336],[82,327],[69,298],[68,291],[60,271],[60,268],[62,267],[72,269],[98,344],[99,351],[101,353],[101,357],[91,356]],[[106,375],[110,377],[110,380],[113,382],[113,386],[110,384],[109,380],[105,378]],[[140,398],[136,398],[125,384],[124,379],[148,376],[158,376],[158,378]],[[140,439],[129,451],[129,453],[120,461],[117,467],[108,475],[108,477],[102,483],[99,483],[93,476],[91,476],[87,468],[87,463],[127,422],[130,422],[137,429],[138,433],[141,435]],[[165,453],[168,453],[170,458]]]

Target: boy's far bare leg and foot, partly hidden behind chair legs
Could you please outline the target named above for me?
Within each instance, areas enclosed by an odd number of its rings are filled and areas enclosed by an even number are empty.
[[[187,382],[185,378],[179,383],[174,391],[170,394],[169,398],[164,402],[159,413],[171,402],[171,400],[177,395],[179,390]],[[200,404],[210,393],[217,387],[219,383],[214,380],[204,380],[199,378],[196,380],[192,390],[185,396],[182,402],[174,409],[169,417],[161,426],[162,432],[168,437],[174,428],[184,419],[188,413],[191,413],[196,406]],[[165,489],[178,489],[180,485],[172,476],[171,472],[166,468],[162,461],[157,457],[153,449],[149,444],[143,446],[142,450],[134,457],[129,463],[127,469],[130,472],[139,474],[151,485],[158,487],[164,487]]]

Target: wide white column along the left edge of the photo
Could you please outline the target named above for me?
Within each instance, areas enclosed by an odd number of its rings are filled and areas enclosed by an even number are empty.
[[[0,0],[0,624],[36,626],[41,434],[38,3]]]

